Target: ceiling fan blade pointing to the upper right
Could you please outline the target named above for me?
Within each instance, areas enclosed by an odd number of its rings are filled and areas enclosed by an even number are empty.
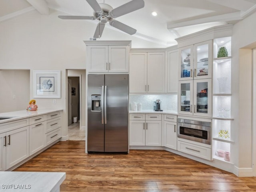
[[[136,11],[143,7],[144,7],[144,0],[132,0],[126,4],[121,5],[120,7],[117,7],[111,10],[109,15],[112,18],[117,18],[119,16]]]

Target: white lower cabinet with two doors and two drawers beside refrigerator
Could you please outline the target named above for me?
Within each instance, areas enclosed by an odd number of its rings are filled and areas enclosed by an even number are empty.
[[[130,114],[129,132],[130,146],[161,146],[161,114]]]

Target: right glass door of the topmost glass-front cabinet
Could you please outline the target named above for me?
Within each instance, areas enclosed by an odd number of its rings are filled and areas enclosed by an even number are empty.
[[[194,45],[194,79],[212,76],[212,40]]]

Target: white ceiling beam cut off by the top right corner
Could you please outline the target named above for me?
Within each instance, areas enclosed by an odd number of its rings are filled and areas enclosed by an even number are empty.
[[[240,11],[247,11],[250,7],[253,6],[252,3],[248,2],[248,0],[207,0],[215,4],[219,4],[222,6],[230,7],[232,9],[240,10]]]

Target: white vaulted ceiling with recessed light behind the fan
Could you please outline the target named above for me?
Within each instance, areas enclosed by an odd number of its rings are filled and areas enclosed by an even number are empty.
[[[116,8],[130,0],[97,1]],[[144,2],[144,8],[120,16],[116,20],[135,28],[137,32],[134,36],[166,46],[176,44],[177,37],[212,26],[234,24],[256,11],[256,0],[144,0]],[[62,15],[92,16],[92,8],[86,0],[0,0],[0,22],[34,9],[40,14],[51,14],[51,9],[55,9],[63,12]],[[152,16],[152,11],[156,11],[158,15]],[[97,21],[89,22],[95,22],[96,28]],[[108,27],[116,30],[111,26]]]

